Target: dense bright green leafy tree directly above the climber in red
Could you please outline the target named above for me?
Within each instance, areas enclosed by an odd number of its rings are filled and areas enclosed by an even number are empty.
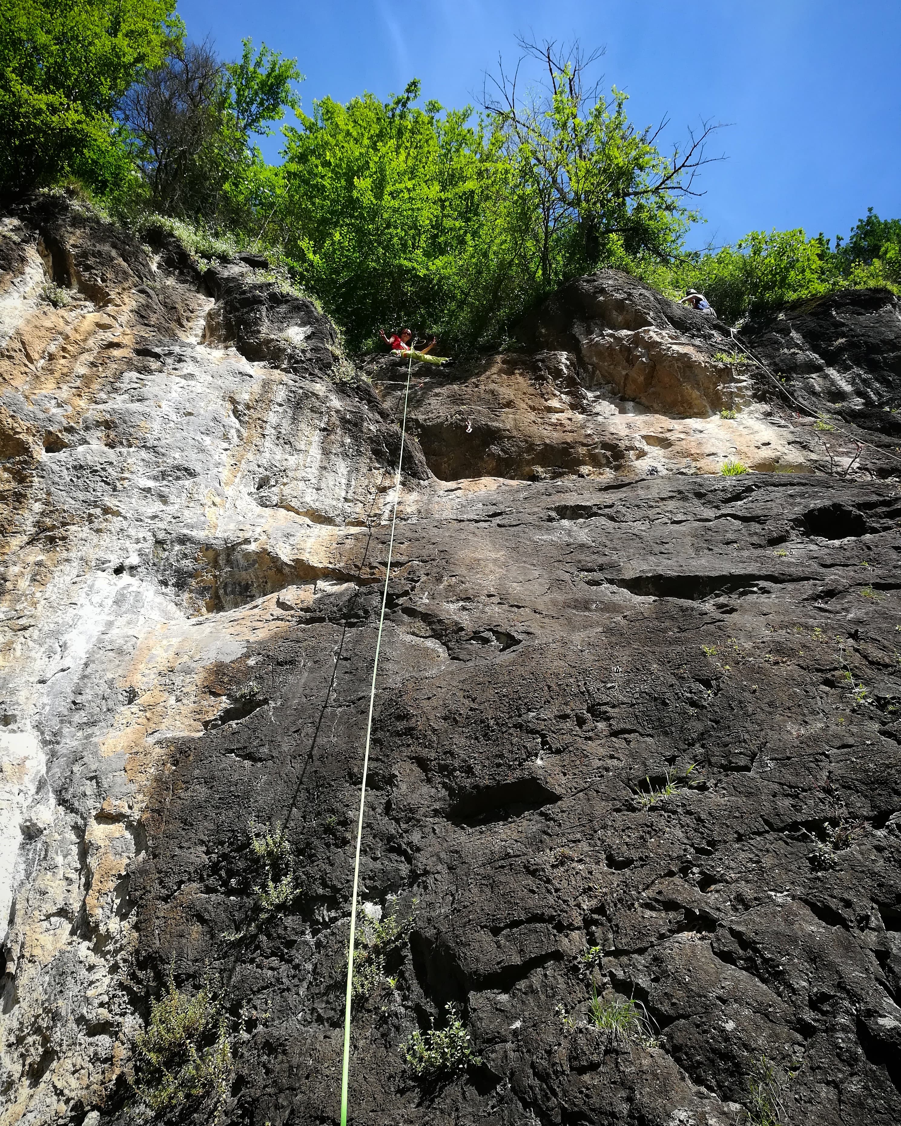
[[[282,238],[357,346],[408,320],[458,339],[465,319],[498,146],[469,107],[416,108],[419,90],[412,81],[387,102],[323,98],[284,131]]]

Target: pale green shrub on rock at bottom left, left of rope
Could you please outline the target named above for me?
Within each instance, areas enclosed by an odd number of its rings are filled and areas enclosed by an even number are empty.
[[[207,978],[186,997],[169,989],[151,1002],[150,1020],[135,1040],[134,1088],[154,1114],[171,1110],[188,1099],[203,1099],[218,1121],[234,1074],[228,1021]]]

